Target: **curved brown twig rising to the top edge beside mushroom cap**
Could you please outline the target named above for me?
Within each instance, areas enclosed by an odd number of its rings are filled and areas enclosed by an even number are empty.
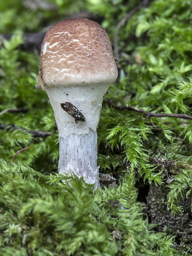
[[[118,36],[119,36],[120,28],[122,26],[124,26],[125,22],[127,20],[129,20],[132,17],[132,15],[141,8],[141,6],[146,7],[147,3],[148,3],[148,0],[141,1],[130,12],[128,12],[127,15],[122,20],[120,20],[119,23],[117,24],[116,32],[115,32],[115,36],[114,36],[114,42],[113,42],[113,44],[114,44],[114,55],[115,55],[116,59],[119,59]]]

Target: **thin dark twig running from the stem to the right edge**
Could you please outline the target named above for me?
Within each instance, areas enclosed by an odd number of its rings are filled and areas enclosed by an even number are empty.
[[[152,113],[152,112],[149,112],[149,111],[145,111],[143,109],[140,109],[140,108],[134,108],[134,107],[131,107],[131,106],[116,106],[116,104],[114,104],[111,100],[107,100],[108,101],[108,104],[111,105],[113,108],[116,108],[116,109],[119,109],[119,110],[125,110],[125,109],[129,109],[129,110],[132,110],[132,111],[136,111],[140,114],[144,114],[147,116],[147,118],[149,117],[164,117],[164,116],[167,116],[167,117],[175,117],[175,118],[183,118],[183,119],[189,119],[189,120],[192,120],[192,116],[188,116],[188,115],[185,115],[185,114],[165,114],[165,113]]]

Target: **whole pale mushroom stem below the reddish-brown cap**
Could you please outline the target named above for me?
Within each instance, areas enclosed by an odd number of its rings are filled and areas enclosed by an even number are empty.
[[[101,103],[109,84],[89,86],[69,86],[44,90],[50,99],[59,130],[60,158],[59,173],[74,172],[84,177],[87,183],[99,185],[97,167],[97,125]],[[75,123],[75,119],[65,112],[60,103],[71,102],[82,110],[86,121]]]

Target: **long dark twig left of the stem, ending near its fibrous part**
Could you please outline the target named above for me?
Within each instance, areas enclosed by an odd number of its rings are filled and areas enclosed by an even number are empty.
[[[21,131],[23,131],[23,132],[32,133],[33,138],[40,137],[40,138],[43,139],[43,141],[45,141],[45,138],[46,138],[47,136],[53,134],[53,132],[30,131],[30,130],[26,130],[26,129],[20,128],[20,127],[18,127],[18,126],[14,126],[14,125],[5,125],[5,124],[0,124],[0,129],[21,130]]]

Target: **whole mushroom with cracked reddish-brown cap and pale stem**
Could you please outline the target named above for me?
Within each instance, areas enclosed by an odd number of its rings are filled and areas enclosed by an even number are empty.
[[[117,78],[110,39],[97,23],[68,19],[44,37],[37,88],[48,95],[59,131],[59,173],[99,186],[97,125],[103,98]]]

